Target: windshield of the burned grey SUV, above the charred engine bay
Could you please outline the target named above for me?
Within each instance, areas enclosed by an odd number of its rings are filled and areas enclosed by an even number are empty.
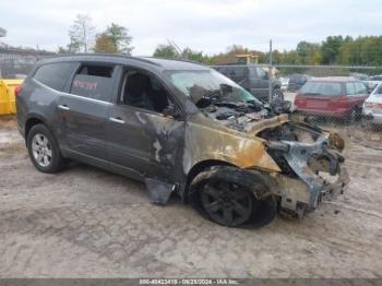
[[[167,73],[171,83],[196,106],[204,98],[262,105],[252,94],[215,70]]]

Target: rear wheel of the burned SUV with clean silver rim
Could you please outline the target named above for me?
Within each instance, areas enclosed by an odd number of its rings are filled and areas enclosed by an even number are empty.
[[[32,127],[26,139],[26,146],[33,165],[39,171],[53,174],[65,166],[67,160],[62,157],[53,134],[45,124]]]

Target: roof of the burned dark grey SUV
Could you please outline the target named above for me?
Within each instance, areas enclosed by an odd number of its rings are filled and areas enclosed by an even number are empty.
[[[95,61],[95,62],[109,62],[109,63],[142,63],[145,65],[153,65],[160,70],[210,70],[207,65],[177,59],[163,59],[151,57],[131,57],[124,55],[115,53],[77,53],[77,55],[59,55],[49,59],[44,59],[39,63],[52,63],[62,61]]]

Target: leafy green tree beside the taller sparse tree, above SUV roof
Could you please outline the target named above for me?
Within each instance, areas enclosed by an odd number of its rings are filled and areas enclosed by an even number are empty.
[[[127,27],[111,23],[105,31],[105,35],[109,37],[109,40],[117,48],[117,52],[131,55],[133,47],[131,46],[132,37],[129,35]]]

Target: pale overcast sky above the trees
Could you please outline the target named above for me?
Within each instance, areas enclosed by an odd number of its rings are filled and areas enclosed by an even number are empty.
[[[128,27],[136,56],[151,56],[166,39],[211,55],[232,44],[266,50],[270,38],[283,50],[327,35],[382,34],[381,0],[1,0],[2,40],[57,50],[77,13],[97,32],[111,22]]]

